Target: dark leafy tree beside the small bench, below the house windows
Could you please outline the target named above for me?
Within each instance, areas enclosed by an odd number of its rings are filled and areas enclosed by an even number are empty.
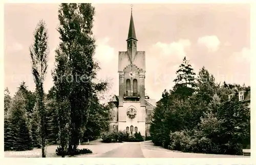
[[[217,112],[222,127],[218,142],[226,154],[241,154],[242,147],[250,143],[250,110],[237,98],[223,102]]]

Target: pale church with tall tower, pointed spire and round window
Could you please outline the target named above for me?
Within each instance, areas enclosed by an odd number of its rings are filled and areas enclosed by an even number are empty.
[[[109,130],[140,132],[150,136],[149,128],[156,100],[145,96],[145,51],[137,50],[137,38],[131,12],[127,50],[119,51],[119,96],[110,102],[114,105]]]

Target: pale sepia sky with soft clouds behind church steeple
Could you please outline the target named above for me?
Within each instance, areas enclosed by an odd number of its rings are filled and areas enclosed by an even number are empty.
[[[130,4],[93,4],[96,38],[95,60],[99,79],[108,79],[106,98],[118,95],[118,51],[126,51]],[[20,82],[35,89],[29,46],[40,19],[49,34],[49,67],[45,91],[53,85],[54,50],[59,43],[59,4],[5,4],[5,87],[15,94]],[[159,100],[172,89],[176,70],[186,56],[198,75],[203,66],[217,82],[250,86],[250,6],[243,4],[134,4],[137,50],[145,51],[145,89]]]

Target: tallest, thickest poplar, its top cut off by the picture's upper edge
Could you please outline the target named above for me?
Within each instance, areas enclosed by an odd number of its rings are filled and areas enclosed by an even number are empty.
[[[106,83],[93,82],[99,69],[93,59],[96,48],[92,32],[95,8],[91,4],[61,4],[58,13],[61,43],[57,56],[61,52],[62,57],[67,58],[69,89],[65,97],[70,104],[69,150],[72,150],[86,131],[96,91],[104,90]]]

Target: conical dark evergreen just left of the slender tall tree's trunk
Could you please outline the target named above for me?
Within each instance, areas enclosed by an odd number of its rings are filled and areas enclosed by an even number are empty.
[[[10,105],[10,123],[14,132],[13,149],[17,151],[32,149],[26,100],[20,90],[16,92]]]

